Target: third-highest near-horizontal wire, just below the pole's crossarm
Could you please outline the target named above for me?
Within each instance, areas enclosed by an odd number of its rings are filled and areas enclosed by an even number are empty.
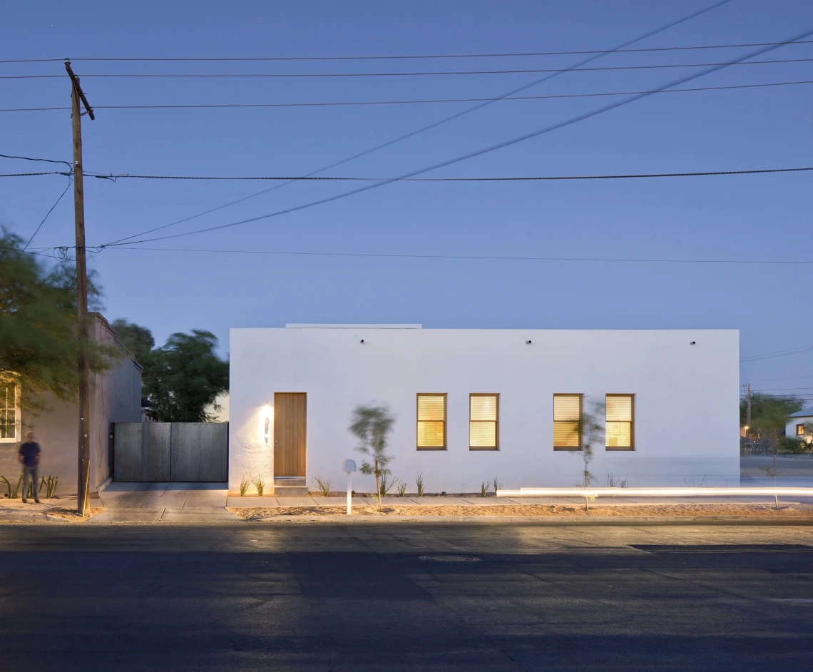
[[[601,96],[629,96],[636,94],[681,94],[696,91],[724,91],[727,89],[760,89],[766,86],[791,86],[813,84],[813,80],[774,81],[763,84],[739,84],[728,86],[698,86],[689,89],[669,89],[667,91],[607,91],[596,94],[550,94],[546,96],[509,96],[507,98],[424,98],[415,100],[359,100],[329,101],[327,103],[202,103],[192,105],[94,105],[94,110],[192,110],[216,108],[251,107],[341,107],[358,105],[422,105],[428,103],[483,103],[502,100],[552,100],[556,98],[597,98]],[[70,107],[4,107],[0,112],[42,112],[67,111]]]

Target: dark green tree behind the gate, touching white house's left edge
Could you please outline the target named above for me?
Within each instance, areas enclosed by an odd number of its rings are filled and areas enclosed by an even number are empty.
[[[156,420],[211,422],[206,407],[228,391],[228,361],[215,353],[217,337],[193,329],[172,334],[154,349],[142,373],[143,389]],[[216,408],[216,407],[215,407]]]

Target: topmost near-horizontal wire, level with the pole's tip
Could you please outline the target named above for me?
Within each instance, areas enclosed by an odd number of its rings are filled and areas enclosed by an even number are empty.
[[[811,40],[799,40],[796,44],[811,44]],[[619,54],[638,54],[654,51],[692,51],[703,49],[737,49],[750,46],[770,46],[778,42],[744,42],[741,44],[723,45],[701,45],[701,46],[654,46],[641,49],[617,49]],[[229,61],[366,61],[366,60],[409,60],[409,59],[493,59],[500,57],[524,57],[524,56],[576,56],[588,54],[603,54],[602,50],[580,50],[580,51],[518,51],[509,53],[492,54],[428,54],[428,55],[393,55],[393,56],[208,56],[208,57],[141,57],[141,58],[86,58],[71,59],[72,61],[85,62],[229,62]],[[0,63],[62,63],[65,59],[6,59]],[[95,107],[94,107],[95,109]]]

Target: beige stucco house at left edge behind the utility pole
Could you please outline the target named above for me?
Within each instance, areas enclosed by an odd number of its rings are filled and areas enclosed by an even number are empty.
[[[111,475],[111,423],[141,420],[141,365],[115,338],[115,332],[98,313],[89,315],[89,335],[98,343],[116,347],[121,357],[103,375],[90,374],[90,491],[98,490]],[[46,408],[38,414],[20,412],[19,386],[0,382],[0,475],[13,485],[20,478],[17,449],[24,433],[33,430],[42,447],[41,476],[59,476],[57,495],[76,494],[79,411],[74,403],[59,401],[48,393]],[[5,488],[5,483],[0,482]],[[0,490],[2,496],[2,490]]]

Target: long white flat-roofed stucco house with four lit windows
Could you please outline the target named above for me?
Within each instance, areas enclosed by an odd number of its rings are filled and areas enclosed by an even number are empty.
[[[229,351],[232,490],[258,474],[341,490],[342,460],[363,460],[350,417],[370,403],[396,417],[389,467],[411,492],[418,473],[428,492],[572,487],[595,404],[595,484],[739,484],[736,330],[288,325],[232,329]]]

